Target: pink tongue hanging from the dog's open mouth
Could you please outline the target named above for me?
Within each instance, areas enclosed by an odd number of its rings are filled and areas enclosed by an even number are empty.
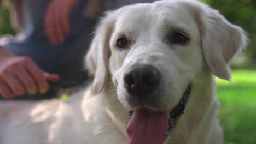
[[[139,108],[126,127],[130,144],[162,144],[168,129],[169,112]]]

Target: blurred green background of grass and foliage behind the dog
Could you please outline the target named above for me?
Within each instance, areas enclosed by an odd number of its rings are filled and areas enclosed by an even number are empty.
[[[243,56],[235,59],[232,82],[217,79],[220,122],[226,144],[256,143],[256,1],[201,0],[222,13],[230,22],[244,28],[250,42]],[[0,8],[0,36],[15,35],[6,4]]]

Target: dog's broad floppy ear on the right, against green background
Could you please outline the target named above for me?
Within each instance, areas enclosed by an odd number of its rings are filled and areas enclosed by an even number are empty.
[[[230,80],[228,64],[246,46],[245,32],[206,4],[190,4],[189,10],[200,30],[203,57],[208,68],[217,77]]]

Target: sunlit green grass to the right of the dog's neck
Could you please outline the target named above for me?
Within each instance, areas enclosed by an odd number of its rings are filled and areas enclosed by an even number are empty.
[[[224,143],[256,143],[256,70],[232,70],[232,82],[217,83]]]

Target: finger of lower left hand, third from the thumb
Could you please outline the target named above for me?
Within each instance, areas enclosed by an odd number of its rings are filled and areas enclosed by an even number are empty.
[[[25,89],[21,82],[12,73],[3,73],[1,79],[9,86],[10,90],[15,95],[22,95],[25,93]]]

